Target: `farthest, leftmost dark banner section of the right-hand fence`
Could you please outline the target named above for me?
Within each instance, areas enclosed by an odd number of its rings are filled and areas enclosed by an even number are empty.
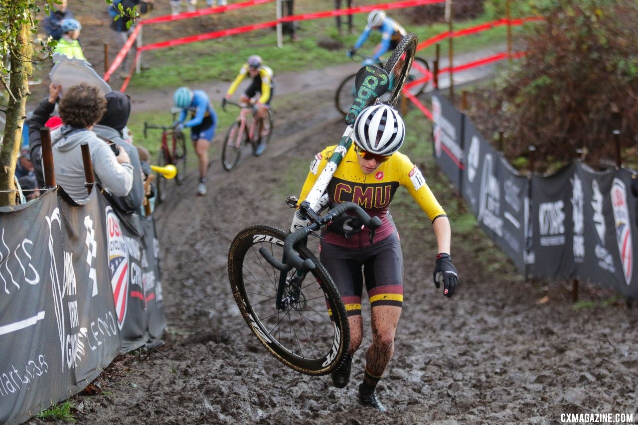
[[[432,96],[434,158],[457,188],[463,168],[463,114],[443,96]]]

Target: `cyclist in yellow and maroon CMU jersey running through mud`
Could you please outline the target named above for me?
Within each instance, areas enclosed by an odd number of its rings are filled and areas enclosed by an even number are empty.
[[[334,173],[327,195],[331,204],[350,201],[361,205],[370,216],[380,218],[382,225],[371,234],[357,223],[355,216],[345,215],[333,220],[322,234],[320,260],[337,285],[350,325],[348,354],[332,372],[332,382],[343,388],[350,380],[352,357],[362,341],[361,297],[365,282],[371,306],[372,344],[367,349],[359,402],[385,412],[375,387],[394,353],[394,335],[403,304],[403,253],[389,213],[399,186],[408,190],[433,223],[438,248],[434,283],[439,288],[443,282],[446,297],[454,294],[457,274],[450,259],[451,231],[445,211],[419,168],[397,152],[405,133],[399,113],[389,105],[372,105],[360,112],[354,129],[354,143]],[[308,196],[335,148],[330,146],[316,154],[297,205]],[[291,231],[304,225],[304,218],[297,211]]]

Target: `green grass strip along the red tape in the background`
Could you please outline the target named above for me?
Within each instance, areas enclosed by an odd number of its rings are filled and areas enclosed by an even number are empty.
[[[373,1],[362,1],[361,6],[366,4],[375,4]],[[359,5],[359,4],[357,4]],[[323,6],[323,8],[322,8]],[[262,14],[255,13],[264,8]],[[332,1],[321,0],[313,4],[312,10],[330,10],[334,6]],[[295,10],[295,14],[303,13],[303,8]],[[264,13],[270,9],[265,6],[258,6],[255,11],[250,10],[241,17],[238,17],[237,11],[228,13],[228,22],[226,27],[237,25],[246,25],[249,23],[263,22],[269,20],[271,13]],[[407,11],[391,10],[388,15],[397,17],[401,13]],[[219,17],[205,17],[215,20]],[[204,19],[204,18],[202,18]],[[252,20],[251,20],[252,19]],[[401,17],[397,17],[402,22]],[[237,34],[234,36],[226,36],[214,40],[198,41],[169,48],[161,48],[151,50],[144,53],[145,61],[151,63],[151,68],[144,72],[134,75],[131,80],[131,89],[144,90],[155,89],[156,87],[179,87],[184,84],[197,84],[209,80],[226,80],[230,81],[235,77],[239,67],[246,57],[251,54],[260,54],[265,63],[267,63],[275,71],[275,74],[294,71],[321,69],[335,64],[346,63],[350,61],[345,55],[346,48],[350,48],[357,37],[360,30],[366,23],[366,14],[357,14],[353,17],[353,22],[357,31],[355,34],[339,35],[334,26],[334,19],[315,19],[304,20],[300,22],[300,42],[291,43],[285,38],[283,47],[277,47],[276,32],[273,29],[262,29],[245,34]],[[454,29],[463,29],[475,26],[486,19],[474,19],[464,22],[455,22]],[[149,32],[152,35],[152,25],[149,25]],[[166,26],[168,24],[159,24]],[[406,31],[414,32],[419,36],[420,41],[427,40],[436,34],[448,31],[447,24],[435,23],[432,25],[404,25]],[[203,30],[203,29],[202,29]],[[519,29],[515,28],[518,32]],[[204,33],[205,31],[202,31]],[[149,36],[145,37],[148,40]],[[380,40],[378,32],[371,34],[361,48],[362,53],[369,54],[372,52],[376,43]],[[153,39],[153,41],[156,41]],[[320,43],[330,41],[337,48],[328,50],[320,47]],[[484,31],[471,36],[463,36],[454,39],[454,52],[463,53],[477,48],[489,45],[502,44],[507,41],[507,29],[505,27],[496,27],[494,29]],[[339,47],[341,46],[341,47]],[[441,55],[447,56],[449,51],[449,43],[444,40],[441,43]],[[419,53],[419,56],[425,56],[429,59],[434,57],[434,47],[429,47]],[[188,59],[188,60],[186,60]],[[179,66],[175,66],[179,64]]]

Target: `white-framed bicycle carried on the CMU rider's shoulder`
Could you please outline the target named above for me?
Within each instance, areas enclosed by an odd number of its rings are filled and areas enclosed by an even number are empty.
[[[328,204],[325,190],[352,145],[352,125],[360,110],[379,101],[396,103],[416,43],[416,35],[408,34],[383,70],[364,66],[357,73],[357,96],[346,114],[346,131],[299,207],[309,225],[290,234],[269,225],[246,227],[235,236],[228,251],[230,287],[246,323],[272,355],[301,373],[327,375],[341,364],[350,345],[350,327],[341,295],[308,248],[308,236],[317,236],[319,230],[346,211],[356,214],[371,235],[381,225],[378,217],[370,218],[353,202],[338,204],[321,215]],[[403,61],[395,70],[399,57]],[[397,84],[389,89],[391,72]],[[286,203],[295,207],[297,198],[288,197]]]

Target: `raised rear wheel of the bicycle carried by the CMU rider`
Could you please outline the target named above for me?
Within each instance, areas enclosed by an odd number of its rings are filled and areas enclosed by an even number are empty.
[[[401,96],[403,84],[412,66],[414,54],[417,51],[417,41],[419,41],[417,34],[408,33],[394,49],[392,56],[390,56],[390,59],[388,59],[383,67],[383,70],[387,72],[390,77],[390,88],[385,94],[377,98],[376,103],[396,105]]]

